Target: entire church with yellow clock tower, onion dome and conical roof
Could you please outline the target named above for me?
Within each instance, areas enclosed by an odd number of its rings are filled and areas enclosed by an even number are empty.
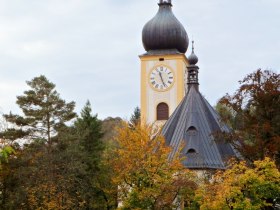
[[[230,130],[199,92],[194,42],[187,58],[189,38],[172,12],[171,0],[160,0],[158,6],[142,31],[146,53],[140,56],[141,121],[163,125],[172,154],[184,145],[180,152],[187,157],[187,168],[224,169],[237,153],[229,143],[216,141],[214,134]]]

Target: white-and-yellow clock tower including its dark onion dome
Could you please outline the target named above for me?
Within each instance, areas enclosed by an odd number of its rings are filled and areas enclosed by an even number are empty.
[[[165,122],[187,91],[188,35],[172,12],[171,0],[160,0],[158,6],[142,31],[141,121],[148,124]]]

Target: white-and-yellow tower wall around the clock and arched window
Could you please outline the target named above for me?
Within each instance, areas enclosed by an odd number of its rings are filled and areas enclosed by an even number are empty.
[[[160,61],[164,58],[164,61]],[[156,121],[156,107],[164,102],[169,106],[169,116],[185,96],[185,55],[142,56],[141,59],[141,114],[142,122]],[[159,65],[169,67],[174,73],[174,84],[164,92],[156,91],[149,83],[150,72]]]

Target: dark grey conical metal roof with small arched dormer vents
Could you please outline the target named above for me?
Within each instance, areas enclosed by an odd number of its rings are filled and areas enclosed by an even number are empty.
[[[163,127],[166,143],[172,146],[171,157],[185,145],[183,164],[192,169],[224,169],[226,160],[237,153],[229,143],[215,141],[215,132],[229,132],[219,115],[201,95],[195,85],[189,91]]]

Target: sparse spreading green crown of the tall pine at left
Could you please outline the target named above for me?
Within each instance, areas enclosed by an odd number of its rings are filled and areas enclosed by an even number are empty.
[[[73,111],[75,103],[62,100],[55,85],[45,76],[35,77],[27,81],[27,85],[30,90],[18,96],[16,101],[24,116],[12,113],[4,115],[7,122],[14,127],[1,132],[0,137],[11,140],[41,139],[51,144],[57,131],[76,116]]]

